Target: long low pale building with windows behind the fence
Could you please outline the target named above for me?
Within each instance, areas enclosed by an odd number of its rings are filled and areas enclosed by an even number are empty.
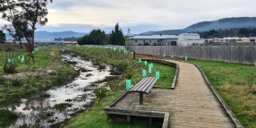
[[[151,46],[176,46],[178,36],[175,35],[152,35],[152,36],[134,36],[125,40],[126,45],[144,45],[149,43]]]

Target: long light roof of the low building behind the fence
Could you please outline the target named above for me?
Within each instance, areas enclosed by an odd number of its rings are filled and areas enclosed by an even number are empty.
[[[133,36],[129,39],[167,39],[167,38],[178,38],[178,36],[175,36],[175,35]]]

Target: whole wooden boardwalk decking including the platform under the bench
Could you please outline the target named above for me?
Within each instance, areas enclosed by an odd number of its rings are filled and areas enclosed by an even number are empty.
[[[144,95],[144,103],[148,106],[140,106],[139,94],[131,92],[118,101],[113,108],[168,112],[170,128],[235,127],[234,122],[226,114],[224,107],[209,89],[209,85],[194,64],[164,61],[179,65],[180,72],[175,90],[153,89],[149,95]]]

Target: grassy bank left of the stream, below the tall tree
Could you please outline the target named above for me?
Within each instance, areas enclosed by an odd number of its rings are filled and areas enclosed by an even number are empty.
[[[53,86],[63,84],[76,77],[78,73],[73,68],[61,61],[61,54],[58,50],[47,47],[35,54],[36,64],[17,64],[17,72],[34,73],[34,70],[55,70],[56,74],[47,76],[28,76],[24,80],[0,81],[0,102],[12,98],[20,98],[30,93],[47,90]],[[3,65],[0,65],[2,67]],[[3,68],[0,74],[3,74]]]

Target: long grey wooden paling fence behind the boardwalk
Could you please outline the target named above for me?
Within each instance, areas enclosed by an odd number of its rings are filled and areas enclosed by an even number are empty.
[[[171,47],[171,46],[129,46],[136,54],[188,56],[201,60],[223,61],[228,63],[254,64],[256,47],[242,46],[205,46],[205,47]]]

